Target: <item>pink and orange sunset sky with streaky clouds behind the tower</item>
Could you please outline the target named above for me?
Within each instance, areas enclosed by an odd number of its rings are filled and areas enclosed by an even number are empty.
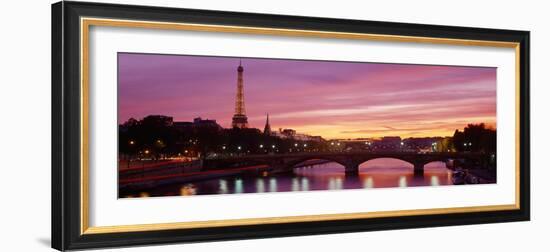
[[[147,115],[230,127],[240,58],[118,54],[119,123]],[[242,58],[251,127],[331,138],[496,127],[496,68]]]

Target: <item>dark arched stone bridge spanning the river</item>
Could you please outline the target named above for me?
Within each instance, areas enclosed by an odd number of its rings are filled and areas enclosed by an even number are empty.
[[[288,154],[246,155],[234,157],[218,157],[206,159],[203,167],[219,167],[227,165],[267,165],[270,172],[291,171],[296,165],[308,160],[327,160],[336,162],[345,167],[347,174],[359,172],[359,165],[372,159],[393,158],[410,163],[415,174],[424,173],[424,165],[448,160],[468,160],[484,163],[488,160],[487,153],[469,152],[303,152]]]

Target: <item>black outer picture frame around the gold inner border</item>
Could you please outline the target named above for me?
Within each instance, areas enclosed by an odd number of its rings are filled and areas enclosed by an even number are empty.
[[[519,209],[82,234],[80,18],[102,17],[280,29],[320,30],[519,44]],[[52,247],[58,250],[253,239],[388,229],[527,221],[530,218],[529,32],[102,3],[52,5]]]

